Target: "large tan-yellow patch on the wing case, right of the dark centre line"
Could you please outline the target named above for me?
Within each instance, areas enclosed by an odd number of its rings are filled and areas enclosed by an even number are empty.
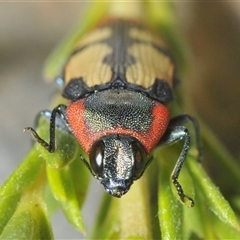
[[[143,43],[133,44],[128,53],[136,59],[136,63],[126,69],[126,79],[129,83],[149,88],[158,78],[173,87],[175,66],[169,56],[159,52],[152,45]]]

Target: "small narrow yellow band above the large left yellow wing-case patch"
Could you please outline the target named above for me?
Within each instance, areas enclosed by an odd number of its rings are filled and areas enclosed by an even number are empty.
[[[76,44],[75,49],[79,49],[87,44],[94,42],[99,42],[104,39],[110,38],[112,35],[112,30],[110,27],[97,28],[92,30],[90,33],[86,34],[79,40]]]

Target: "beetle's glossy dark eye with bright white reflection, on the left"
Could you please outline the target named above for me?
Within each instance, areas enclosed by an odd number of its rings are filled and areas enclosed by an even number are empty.
[[[102,140],[97,141],[90,153],[90,165],[94,173],[98,176],[103,172],[103,158],[104,158],[105,145]]]

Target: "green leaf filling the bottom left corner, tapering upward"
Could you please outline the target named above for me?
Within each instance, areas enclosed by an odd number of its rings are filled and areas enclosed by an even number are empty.
[[[16,211],[11,216],[0,239],[53,239],[43,192],[45,171],[21,194]]]

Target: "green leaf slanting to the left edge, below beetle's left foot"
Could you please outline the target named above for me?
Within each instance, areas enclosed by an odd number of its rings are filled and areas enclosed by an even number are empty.
[[[39,152],[33,148],[1,186],[0,198],[22,192],[36,179],[44,163],[45,161],[39,156]]]

